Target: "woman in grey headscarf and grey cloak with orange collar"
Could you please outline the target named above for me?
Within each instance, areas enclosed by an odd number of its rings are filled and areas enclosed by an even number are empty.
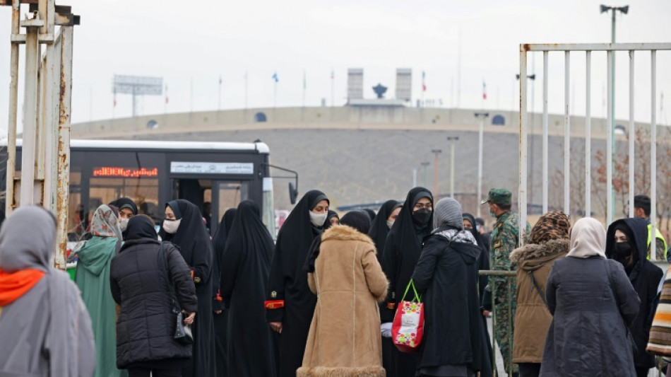
[[[90,377],[88,311],[68,274],[49,267],[56,219],[20,207],[0,231],[0,376]]]

